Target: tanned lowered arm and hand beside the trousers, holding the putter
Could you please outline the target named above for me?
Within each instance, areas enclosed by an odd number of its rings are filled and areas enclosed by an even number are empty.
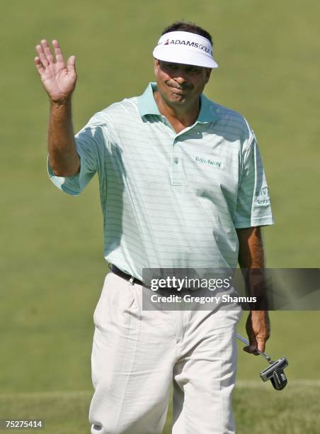
[[[248,290],[253,293],[253,274],[251,270],[264,268],[263,243],[260,227],[236,229],[239,238],[239,266],[248,270]],[[263,284],[263,282],[262,282]],[[270,320],[268,311],[251,311],[246,321],[246,333],[248,334],[249,347],[244,347],[246,352],[258,355],[256,350],[264,351],[265,342],[270,336]]]

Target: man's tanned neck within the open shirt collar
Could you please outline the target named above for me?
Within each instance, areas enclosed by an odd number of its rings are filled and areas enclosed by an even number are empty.
[[[159,91],[154,91],[154,99],[161,115],[166,116],[176,132],[193,125],[200,111],[200,98],[191,104],[168,104]]]

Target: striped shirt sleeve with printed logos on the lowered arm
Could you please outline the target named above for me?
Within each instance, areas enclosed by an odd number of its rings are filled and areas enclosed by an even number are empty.
[[[265,180],[260,151],[253,135],[251,145],[244,155],[241,182],[239,183],[234,215],[234,227],[273,225],[268,184]]]

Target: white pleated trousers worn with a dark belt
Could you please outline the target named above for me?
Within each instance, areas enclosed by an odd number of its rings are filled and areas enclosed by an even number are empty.
[[[238,311],[142,311],[110,272],[94,312],[91,434],[156,434],[173,382],[173,434],[232,434]]]

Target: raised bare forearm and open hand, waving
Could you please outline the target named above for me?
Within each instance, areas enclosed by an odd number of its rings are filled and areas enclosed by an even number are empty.
[[[36,46],[35,66],[50,99],[48,133],[49,162],[59,177],[71,177],[79,172],[80,158],[76,152],[72,127],[72,93],[76,86],[75,57],[64,64],[57,40],[52,41],[56,61],[46,40]]]

